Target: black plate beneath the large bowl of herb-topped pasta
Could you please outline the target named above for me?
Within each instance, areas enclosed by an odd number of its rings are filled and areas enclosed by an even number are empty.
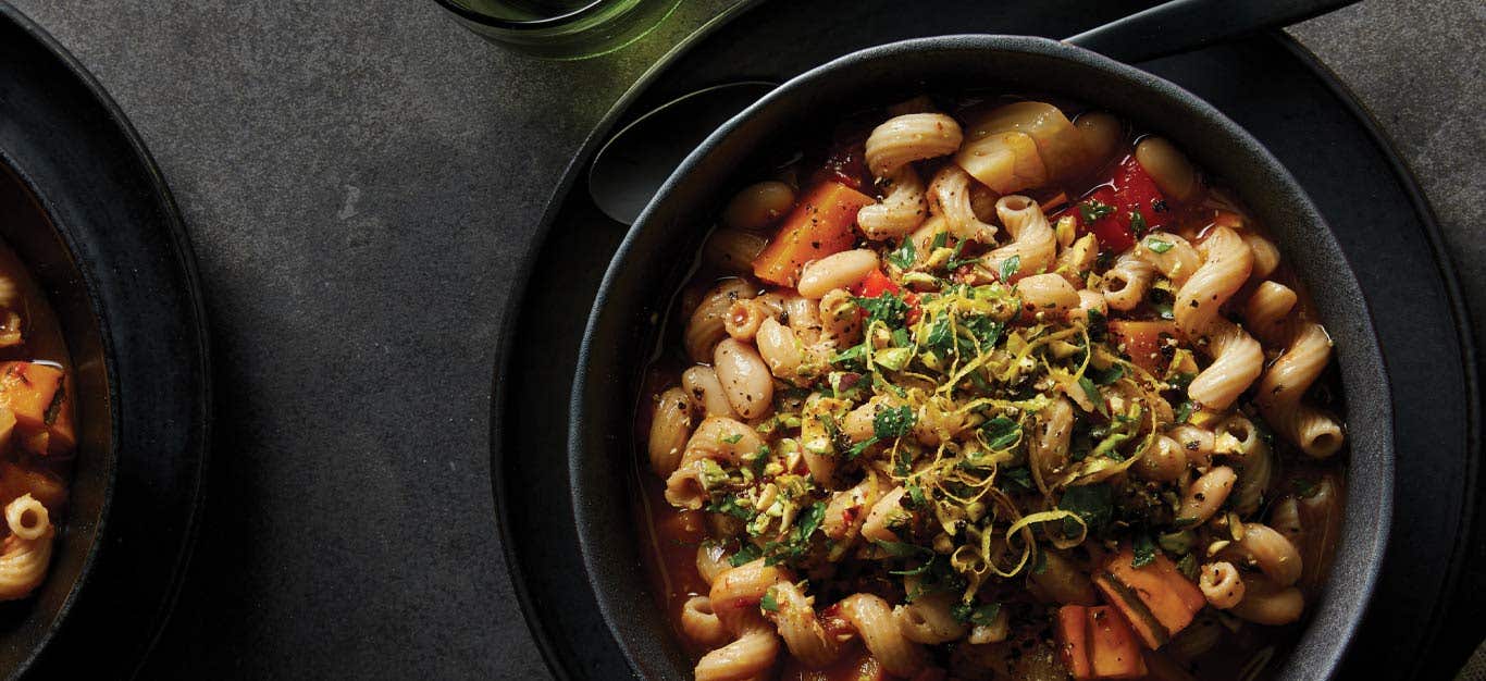
[[[1062,37],[1146,4],[1016,1],[999,3],[993,16],[972,0],[936,1],[932,10],[877,0],[759,1],[698,31],[609,112],[538,225],[526,290],[513,296],[504,318],[495,376],[498,522],[516,592],[554,674],[614,678],[627,671],[588,589],[562,456],[584,321],[624,236],[584,184],[606,135],[685,92],[785,80],[871,45],[970,30]],[[1259,36],[1143,67],[1223,110],[1285,164],[1336,230],[1378,324],[1395,404],[1394,540],[1340,677],[1453,672],[1465,650],[1425,653],[1455,593],[1474,509],[1476,355],[1428,205],[1366,113],[1288,37]]]

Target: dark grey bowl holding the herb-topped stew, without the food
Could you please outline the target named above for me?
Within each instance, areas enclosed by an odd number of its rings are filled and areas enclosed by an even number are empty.
[[[1352,639],[1388,538],[1394,442],[1388,375],[1357,280],[1330,229],[1294,178],[1236,123],[1181,88],[1064,43],[1010,36],[908,40],[838,58],[785,83],[709,137],[635,223],[603,278],[588,318],[572,393],[569,467],[578,538],[614,636],[637,674],[691,678],[645,580],[630,520],[633,410],[667,302],[709,220],[739,186],[762,174],[764,155],[792,149],[865,107],[921,92],[1046,92],[1107,109],[1156,131],[1223,178],[1279,241],[1309,284],[1336,340],[1346,394],[1351,473],[1330,581],[1278,678],[1331,675]],[[829,129],[829,128],[825,128]]]

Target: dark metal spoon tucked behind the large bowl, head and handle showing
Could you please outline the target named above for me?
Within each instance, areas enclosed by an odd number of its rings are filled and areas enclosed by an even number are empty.
[[[1126,64],[1168,57],[1265,28],[1290,25],[1357,0],[1171,0],[1065,42]],[[749,80],[698,89],[635,119],[599,149],[588,195],[632,225],[692,149],[777,83]]]

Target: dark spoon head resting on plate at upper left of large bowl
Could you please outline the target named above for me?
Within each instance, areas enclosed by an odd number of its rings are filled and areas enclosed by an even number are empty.
[[[603,214],[632,225],[681,161],[712,131],[779,83],[746,80],[690,92],[635,119],[599,149],[588,195]]]

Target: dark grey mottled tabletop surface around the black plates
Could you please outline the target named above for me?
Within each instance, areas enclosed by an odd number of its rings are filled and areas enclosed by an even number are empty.
[[[144,135],[212,323],[211,500],[146,677],[545,678],[492,522],[499,311],[569,153],[731,1],[583,62],[501,52],[428,0],[12,1]],[[1412,165],[1486,338],[1486,4],[1291,31]]]

